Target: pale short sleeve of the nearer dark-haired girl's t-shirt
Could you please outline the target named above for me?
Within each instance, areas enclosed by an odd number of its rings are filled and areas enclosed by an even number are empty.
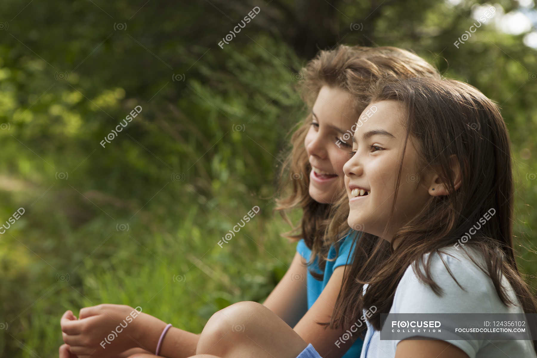
[[[410,265],[397,286],[393,311],[396,313],[494,312],[490,303],[490,295],[492,294],[490,277],[467,258],[452,257],[446,253],[433,253],[432,255],[431,275],[434,282],[442,289],[441,296],[437,296],[429,284],[420,281]],[[444,259],[449,271],[466,291],[462,290],[453,280],[440,257]],[[425,272],[423,266],[421,269],[422,272]],[[442,322],[443,327],[454,332],[453,328],[456,323],[454,322],[451,327],[449,325],[449,322]],[[434,338],[434,334],[419,333],[419,336]],[[407,335],[407,338],[410,338],[416,334],[408,333]],[[482,340],[472,339],[472,333],[455,333],[454,335],[456,336],[454,340],[446,341],[462,349],[470,358],[475,358],[478,350],[485,344]],[[395,340],[394,346],[400,341]]]

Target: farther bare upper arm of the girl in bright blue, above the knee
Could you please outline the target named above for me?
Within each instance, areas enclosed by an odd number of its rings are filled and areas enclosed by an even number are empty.
[[[306,260],[297,252],[284,277],[274,287],[263,305],[294,327],[308,310]]]

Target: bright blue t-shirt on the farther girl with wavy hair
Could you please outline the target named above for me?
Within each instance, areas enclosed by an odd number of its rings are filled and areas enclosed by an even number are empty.
[[[358,236],[360,235],[361,233],[358,233]],[[324,266],[323,281],[316,280],[315,277],[313,277],[310,273],[310,271],[314,271],[320,274],[322,273],[321,269],[317,265],[318,259],[315,258],[315,260],[308,266],[308,273],[306,277],[306,286],[308,288],[308,310],[311,308],[311,306],[313,306],[313,304],[317,300],[317,297],[321,295],[321,292],[328,283],[328,280],[330,280],[330,277],[332,276],[332,273],[334,272],[336,267],[352,264],[354,246],[356,246],[352,245],[353,236],[354,235],[352,234],[347,235],[345,238],[340,240],[339,251],[337,255],[336,248],[333,247],[333,245],[330,246],[330,250],[328,251],[328,258],[336,258],[336,260],[326,261],[326,265]],[[308,249],[308,246],[306,246],[304,239],[301,239],[296,245],[296,252],[298,252],[304,259],[306,259],[306,262],[309,262],[311,260],[311,250]],[[349,253],[351,253],[350,257]],[[362,350],[362,344],[364,344],[364,341],[361,338],[358,338],[349,348],[349,350],[347,350],[347,353],[343,355],[343,358],[358,358]],[[337,349],[337,346],[334,346],[334,348]]]

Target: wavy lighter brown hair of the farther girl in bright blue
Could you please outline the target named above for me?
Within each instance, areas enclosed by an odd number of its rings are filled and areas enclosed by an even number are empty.
[[[291,138],[291,150],[284,160],[280,172],[280,192],[284,192],[291,184],[290,191],[279,198],[277,207],[279,213],[292,226],[292,230],[283,236],[296,242],[304,239],[311,250],[311,257],[317,257],[318,267],[324,271],[328,249],[336,244],[349,230],[346,219],[344,222],[333,221],[333,210],[348,214],[348,205],[337,207],[332,204],[316,202],[309,195],[309,172],[311,166],[308,160],[304,137],[306,137],[310,122],[311,108],[321,87],[328,85],[344,89],[351,94],[356,116],[367,106],[369,88],[379,79],[387,77],[416,77],[431,76],[439,78],[438,71],[421,57],[397,47],[361,47],[339,45],[333,50],[321,50],[316,57],[309,61],[300,71],[297,91],[308,109],[308,115],[297,123],[297,128]],[[342,189],[341,197],[345,195]],[[339,198],[338,198],[339,199]],[[293,225],[287,212],[291,209],[302,209],[300,224]],[[328,227],[333,232],[328,233]],[[336,245],[336,250],[338,246]],[[322,280],[323,275],[311,274]]]

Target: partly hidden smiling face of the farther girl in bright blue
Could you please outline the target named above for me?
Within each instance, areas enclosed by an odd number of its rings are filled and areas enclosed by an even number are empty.
[[[351,142],[340,138],[356,120],[350,100],[348,92],[323,86],[313,106],[304,146],[312,167],[309,195],[320,203],[333,203],[343,193],[343,165],[349,159]]]

